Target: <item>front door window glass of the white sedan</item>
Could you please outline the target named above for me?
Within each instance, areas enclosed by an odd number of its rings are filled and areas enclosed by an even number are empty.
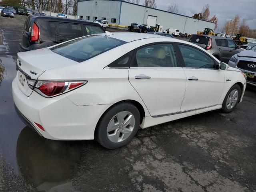
[[[214,69],[214,60],[206,53],[185,45],[178,45],[187,68]]]

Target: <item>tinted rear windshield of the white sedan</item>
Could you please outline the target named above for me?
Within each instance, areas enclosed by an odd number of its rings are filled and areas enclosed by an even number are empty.
[[[77,62],[83,62],[94,56],[126,42],[99,35],[85,36],[51,48],[53,52]]]

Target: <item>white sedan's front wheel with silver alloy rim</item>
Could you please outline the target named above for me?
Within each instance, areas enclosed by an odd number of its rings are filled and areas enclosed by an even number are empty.
[[[230,88],[228,93],[226,94],[226,97],[224,98],[224,101],[222,103],[222,112],[224,113],[230,113],[236,108],[236,105],[238,104],[241,97],[241,88],[238,84],[235,84]]]

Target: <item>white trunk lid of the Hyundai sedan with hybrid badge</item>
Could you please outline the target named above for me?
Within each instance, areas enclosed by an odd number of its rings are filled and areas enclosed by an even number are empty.
[[[78,62],[56,54],[48,48],[29,52],[19,52],[16,81],[20,90],[26,96],[30,96],[32,89],[28,86],[28,79],[36,80],[46,70],[62,68],[75,64],[78,64]]]

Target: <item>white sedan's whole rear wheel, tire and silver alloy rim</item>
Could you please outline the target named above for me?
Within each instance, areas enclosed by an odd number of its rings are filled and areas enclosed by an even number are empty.
[[[140,124],[140,112],[130,103],[118,104],[100,119],[95,131],[96,140],[105,148],[122,147],[134,138]]]

